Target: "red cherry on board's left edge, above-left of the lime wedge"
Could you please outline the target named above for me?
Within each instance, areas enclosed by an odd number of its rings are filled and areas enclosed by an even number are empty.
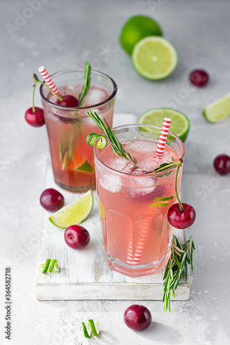
[[[56,189],[48,188],[41,193],[40,204],[50,212],[56,212],[64,206],[64,197]]]

